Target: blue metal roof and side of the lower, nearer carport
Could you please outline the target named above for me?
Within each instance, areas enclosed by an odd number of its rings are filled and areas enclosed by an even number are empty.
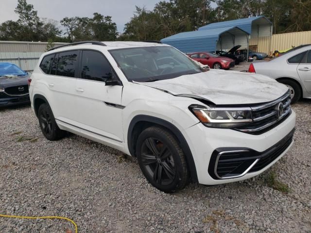
[[[238,31],[249,34],[238,27],[213,28],[193,32],[178,33],[161,40],[162,43],[171,45],[182,52],[215,51],[217,41],[222,33]]]

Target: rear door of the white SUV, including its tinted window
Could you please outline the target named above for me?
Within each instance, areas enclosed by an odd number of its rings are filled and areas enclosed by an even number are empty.
[[[56,53],[51,73],[46,76],[50,90],[48,99],[54,117],[69,124],[75,124],[78,120],[74,107],[78,60],[79,50]]]

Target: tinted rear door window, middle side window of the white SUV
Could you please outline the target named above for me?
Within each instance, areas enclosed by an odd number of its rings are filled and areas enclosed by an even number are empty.
[[[79,51],[60,52],[58,55],[56,75],[74,78]]]

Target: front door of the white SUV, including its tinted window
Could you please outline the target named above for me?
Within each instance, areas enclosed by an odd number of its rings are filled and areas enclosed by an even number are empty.
[[[108,142],[122,142],[122,85],[105,85],[118,79],[104,54],[83,50],[75,92],[82,133]],[[121,83],[121,82],[120,82]]]

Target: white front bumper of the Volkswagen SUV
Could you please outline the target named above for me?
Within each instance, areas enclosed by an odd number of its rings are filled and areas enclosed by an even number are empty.
[[[291,135],[294,126],[295,113],[293,111],[292,114],[281,124],[268,132],[259,135],[252,135],[229,129],[207,128],[201,123],[188,128],[186,130],[186,139],[189,142],[190,150],[192,152],[199,183],[209,185],[230,183],[259,175],[275,164],[276,161],[279,160],[291,147],[293,143],[292,138],[289,137],[287,138],[288,140],[285,139],[288,135]],[[267,151],[276,147],[282,139],[284,139],[286,143],[284,143],[279,153],[273,154],[271,151],[267,153]],[[260,163],[257,161],[247,172],[245,172],[245,174],[242,174],[242,176],[239,176],[241,174],[236,174],[236,177],[224,177],[223,179],[220,174],[217,176],[217,172],[215,172],[215,151],[228,151],[233,150],[233,148],[250,151],[245,152],[248,154],[244,154],[245,157],[251,157],[250,160],[243,165],[247,166],[247,168],[250,167],[255,160],[259,159],[259,161],[261,161]],[[216,155],[218,154],[219,152],[217,152]],[[272,156],[274,157],[272,158]],[[229,159],[232,159],[230,154],[228,154],[228,157]],[[257,167],[256,164],[258,165]]]

